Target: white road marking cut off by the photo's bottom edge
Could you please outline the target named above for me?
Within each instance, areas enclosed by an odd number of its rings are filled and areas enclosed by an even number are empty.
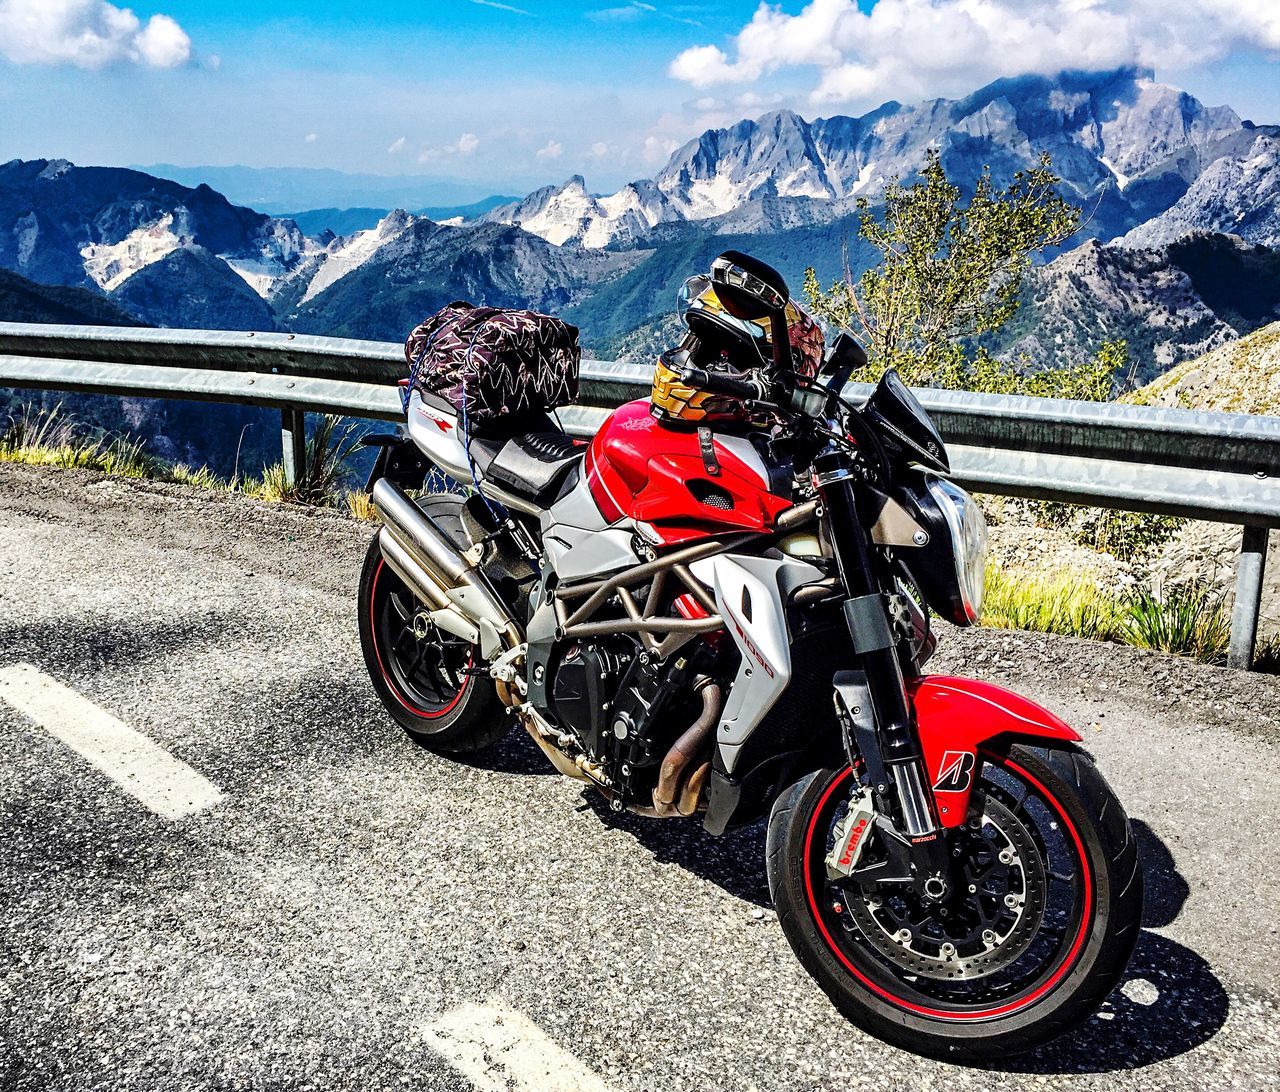
[[[452,1009],[425,1034],[480,1092],[612,1092],[529,1016],[497,997]]]

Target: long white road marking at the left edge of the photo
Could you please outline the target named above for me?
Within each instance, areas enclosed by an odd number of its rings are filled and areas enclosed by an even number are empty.
[[[180,819],[223,799],[216,785],[184,762],[29,663],[0,668],[0,700],[166,819]]]

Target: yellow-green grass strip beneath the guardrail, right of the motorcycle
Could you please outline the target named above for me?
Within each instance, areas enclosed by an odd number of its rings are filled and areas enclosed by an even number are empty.
[[[1006,630],[1089,638],[1226,662],[1231,625],[1221,594],[1185,584],[1156,595],[1146,589],[1114,595],[1068,572],[1044,576],[987,568],[982,623]],[[1280,673],[1280,635],[1260,643],[1258,671]]]

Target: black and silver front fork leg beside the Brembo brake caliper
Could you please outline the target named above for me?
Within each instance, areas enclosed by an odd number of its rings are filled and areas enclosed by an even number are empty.
[[[872,513],[863,511],[851,457],[827,451],[814,460],[814,483],[831,531],[832,549],[849,598],[845,621],[858,654],[860,672],[841,672],[836,698],[844,705],[850,750],[861,757],[882,812],[924,858],[920,882],[945,872],[946,847],[928,789],[915,714],[908,698],[899,640],[874,565]],[[869,704],[870,708],[865,708]]]

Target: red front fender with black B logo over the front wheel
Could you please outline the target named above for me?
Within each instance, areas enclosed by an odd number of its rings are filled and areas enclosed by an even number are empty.
[[[943,827],[957,827],[965,819],[983,744],[997,736],[1080,741],[1061,717],[991,682],[925,675],[911,680],[908,693]]]

